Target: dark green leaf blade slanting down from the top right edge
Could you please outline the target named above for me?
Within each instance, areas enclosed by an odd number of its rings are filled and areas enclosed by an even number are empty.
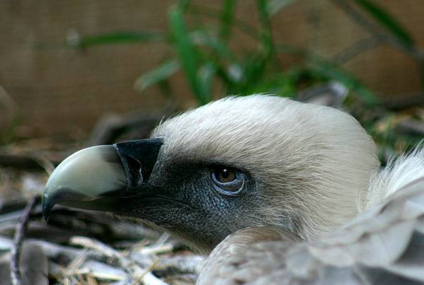
[[[380,23],[386,30],[393,34],[400,42],[407,47],[413,47],[413,37],[396,21],[387,11],[377,6],[370,0],[353,0],[358,6],[363,8],[367,13],[375,18],[375,21]]]

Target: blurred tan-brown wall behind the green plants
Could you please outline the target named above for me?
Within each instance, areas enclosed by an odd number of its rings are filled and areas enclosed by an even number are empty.
[[[194,1],[206,6],[219,1]],[[211,4],[211,3],[215,4]],[[165,30],[167,8],[175,1],[148,0],[3,0],[0,1],[0,86],[15,101],[22,124],[39,136],[86,136],[105,112],[158,110],[158,89],[134,91],[134,80],[170,50],[162,43],[105,45],[88,50],[36,49],[40,42],[64,42],[71,31],[80,35],[115,30]],[[379,0],[424,45],[424,1]],[[254,1],[239,1],[237,13],[257,22]],[[307,47],[332,57],[368,36],[326,0],[299,0],[273,18],[276,40]],[[240,41],[247,38],[240,35]],[[247,44],[249,44],[247,42]],[[285,58],[283,58],[285,62]],[[287,63],[290,59],[287,59]],[[420,90],[418,66],[401,52],[378,47],[344,65],[383,95]],[[184,106],[193,105],[177,76],[175,87]],[[0,123],[6,122],[6,111]],[[1,124],[0,124],[1,127]],[[4,127],[4,126],[3,126]]]

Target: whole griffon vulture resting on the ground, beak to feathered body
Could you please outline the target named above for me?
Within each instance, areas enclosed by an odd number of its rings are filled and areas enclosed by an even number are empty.
[[[150,139],[69,156],[47,182],[45,216],[54,204],[215,248],[199,284],[424,282],[424,151],[380,170],[370,136],[331,107],[218,100]]]

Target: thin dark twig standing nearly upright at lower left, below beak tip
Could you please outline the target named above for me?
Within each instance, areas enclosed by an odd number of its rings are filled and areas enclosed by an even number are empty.
[[[15,236],[13,237],[13,247],[11,248],[11,281],[13,285],[22,284],[22,277],[20,275],[19,260],[20,250],[22,249],[23,239],[25,238],[25,231],[28,228],[28,221],[30,214],[35,206],[36,197],[30,200],[23,212],[22,221],[16,226]]]

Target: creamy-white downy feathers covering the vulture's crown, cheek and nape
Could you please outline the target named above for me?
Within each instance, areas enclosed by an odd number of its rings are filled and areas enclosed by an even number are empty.
[[[358,214],[379,166],[374,142],[351,115],[267,95],[218,100],[163,122],[152,136],[165,138],[171,161],[248,170],[261,188],[261,224],[306,239]]]

